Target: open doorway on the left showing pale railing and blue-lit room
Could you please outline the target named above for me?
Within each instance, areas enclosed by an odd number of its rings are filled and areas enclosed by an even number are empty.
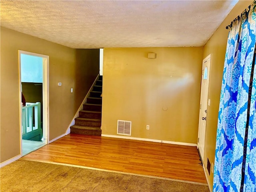
[[[21,50],[18,56],[20,154],[24,156],[49,142],[49,56]]]

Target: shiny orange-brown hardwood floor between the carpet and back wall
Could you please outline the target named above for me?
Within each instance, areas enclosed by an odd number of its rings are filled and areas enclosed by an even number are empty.
[[[207,183],[192,146],[69,134],[23,159]]]

